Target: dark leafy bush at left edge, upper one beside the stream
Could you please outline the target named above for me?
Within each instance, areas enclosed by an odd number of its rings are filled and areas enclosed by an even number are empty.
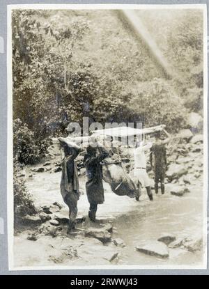
[[[32,130],[20,119],[13,122],[13,154],[20,164],[34,164],[40,155]]]

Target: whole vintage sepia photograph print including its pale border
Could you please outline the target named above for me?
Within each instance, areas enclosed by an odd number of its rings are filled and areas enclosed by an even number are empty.
[[[207,6],[8,6],[10,270],[205,269]]]

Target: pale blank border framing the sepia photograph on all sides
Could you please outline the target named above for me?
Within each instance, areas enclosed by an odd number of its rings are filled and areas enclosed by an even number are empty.
[[[12,85],[12,33],[11,33],[11,13],[14,9],[203,9],[203,75],[204,75],[204,87],[203,87],[203,244],[206,247],[204,254],[203,266],[189,267],[187,265],[94,265],[94,266],[34,266],[34,267],[15,267],[13,263],[13,85]],[[208,38],[207,38],[207,6],[206,4],[180,4],[180,5],[141,5],[141,4],[21,4],[21,5],[8,5],[8,38],[7,38],[7,77],[8,77],[8,150],[7,150],[7,196],[8,196],[8,262],[9,270],[197,270],[207,268],[207,204],[208,204]]]

